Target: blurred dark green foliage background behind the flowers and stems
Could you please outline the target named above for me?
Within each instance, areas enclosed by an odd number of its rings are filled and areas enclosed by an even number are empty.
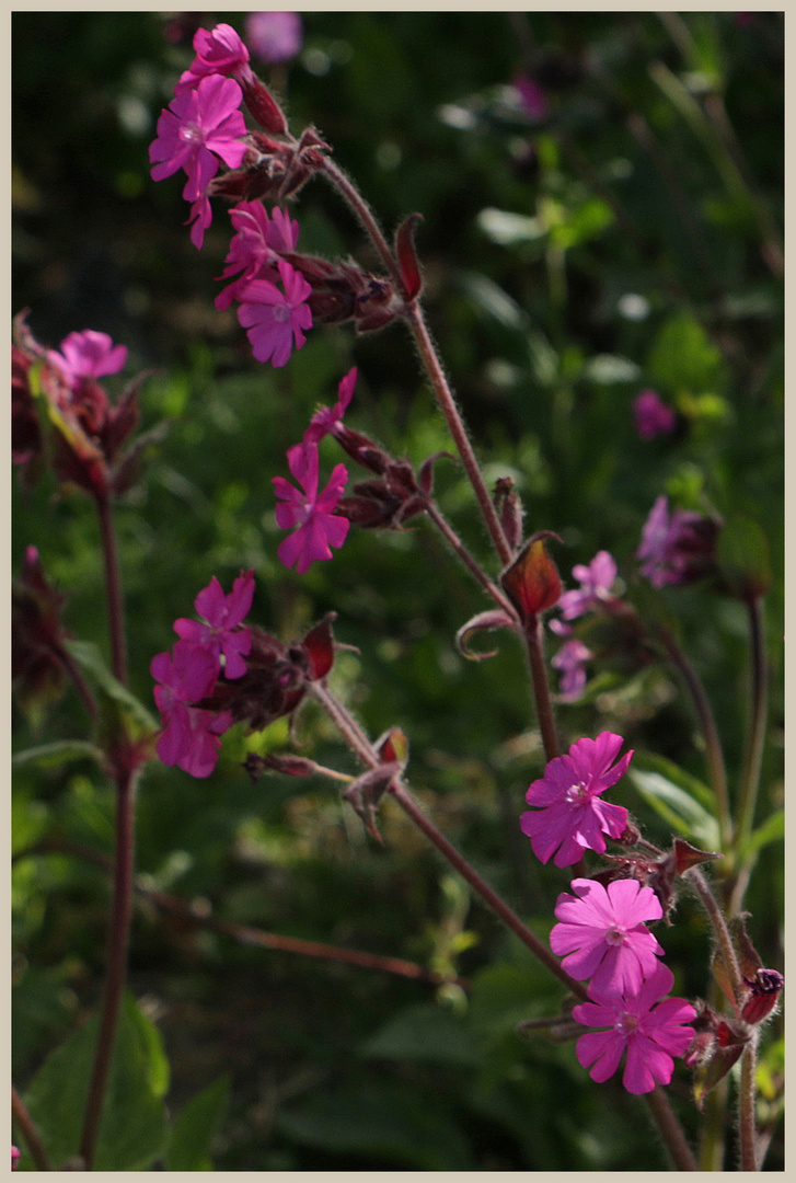
[[[749,689],[743,610],[705,586],[653,596],[634,552],[661,492],[745,515],[764,531],[772,587],[762,821],[782,803],[783,21],[740,15],[309,12],[302,57],[272,82],[292,129],[319,128],[389,232],[422,213],[429,323],[486,473],[515,478],[529,532],[561,536],[562,575],[608,549],[639,605],[668,613],[711,697],[731,793]],[[212,14],[202,17],[209,27]],[[242,28],[242,14],[221,19]],[[565,884],[532,861],[517,825],[543,767],[523,658],[507,638],[488,661],[460,657],[454,634],[484,607],[466,574],[444,561],[427,524],[352,531],[303,578],[276,560],[271,477],[285,473],[285,448],[351,364],[361,375],[354,427],[413,461],[449,447],[408,336],[401,327],[361,338],[321,330],[283,370],[251,360],[234,313],[213,308],[225,212],[216,208],[199,253],[179,180],[149,179],[157,114],[192,57],[189,45],[167,43],[163,25],[157,13],[13,14],[14,311],[30,308],[52,345],[83,328],[125,342],[128,374],[155,369],[144,426],[170,422],[117,511],[131,689],[151,709],[149,662],[213,574],[228,588],[253,567],[250,619],[285,638],[337,612],[337,639],[355,647],[338,658],[338,690],[371,735],[406,731],[425,807],[546,938]],[[542,118],[519,106],[519,73],[542,85]],[[296,215],[303,248],[375,265],[322,182],[302,193]],[[639,440],[630,408],[647,386],[678,411],[675,435]],[[326,440],[322,464],[337,459]],[[461,470],[441,460],[436,477],[442,509],[488,563]],[[92,509],[54,492],[47,479],[28,493],[15,487],[14,563],[34,543],[69,593],[70,629],[106,651]],[[601,685],[562,709],[567,742],[616,730],[640,754],[704,777],[671,673],[624,672]],[[312,710],[299,732],[315,758],[351,770]],[[15,718],[18,750],[72,738],[85,738],[85,720],[71,693],[38,731]],[[263,742],[284,746],[284,723]],[[244,948],[142,899],[130,989],[143,1011],[129,1013],[124,1039],[143,1039],[149,1023],[170,1062],[168,1092],[164,1080],[150,1087],[147,1137],[164,1105],[177,1114],[172,1149],[161,1130],[143,1169],[155,1155],[169,1169],[207,1166],[198,1131],[216,1126],[219,1170],[665,1166],[643,1111],[616,1081],[593,1085],[571,1043],[516,1034],[520,1020],[555,1013],[559,988],[462,897],[397,810],[384,808],[376,848],[328,782],[252,787],[245,750],[231,733],[202,782],[148,769],[137,815],[145,883],[240,924],[444,965],[471,991],[435,996],[387,975]],[[660,777],[640,771],[615,800],[667,842]],[[22,1085],[65,1039],[90,1042],[90,1028],[71,1033],[98,1001],[108,881],[64,849],[108,853],[112,808],[79,749],[54,767],[17,770],[15,853],[46,840],[62,847],[14,868]],[[764,963],[778,965],[783,870],[770,830],[748,904]],[[704,994],[710,940],[690,900],[662,939],[677,989]],[[157,1060],[148,1047],[149,1068],[132,1056],[144,1075]],[[33,1086],[43,1114],[63,1085],[58,1061],[46,1065]],[[673,1093],[694,1129],[685,1074]],[[779,1153],[775,1142],[769,1165]],[[124,1163],[108,1165],[141,1169]]]

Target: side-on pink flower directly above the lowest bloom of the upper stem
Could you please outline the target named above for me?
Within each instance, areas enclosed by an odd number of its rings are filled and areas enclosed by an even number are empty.
[[[239,299],[242,289],[252,279],[278,278],[276,270],[279,253],[296,250],[299,227],[290,214],[276,207],[271,218],[261,201],[240,201],[229,211],[235,235],[229,244],[221,279],[240,272],[234,283],[228,284],[215,297],[215,306],[226,310],[233,299]]]

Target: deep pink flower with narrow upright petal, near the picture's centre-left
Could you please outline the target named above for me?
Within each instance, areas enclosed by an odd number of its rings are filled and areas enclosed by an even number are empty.
[[[284,477],[273,477],[277,497],[286,502],[277,505],[277,524],[283,530],[292,530],[280,545],[277,554],[285,567],[296,565],[299,575],[304,575],[312,563],[331,558],[331,547],[343,545],[348,536],[350,522],[332,511],[343,494],[348,470],[338,464],[331,474],[329,484],[318,493],[318,445],[296,444],[287,450],[287,464],[302,489],[300,492]]]

